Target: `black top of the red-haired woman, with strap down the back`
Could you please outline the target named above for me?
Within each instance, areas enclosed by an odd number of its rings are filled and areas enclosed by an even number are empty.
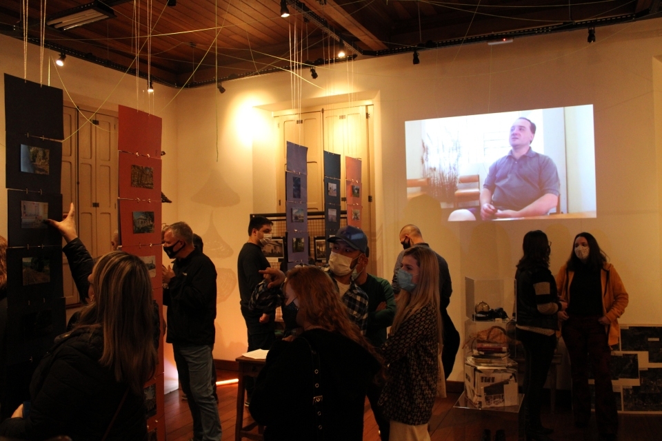
[[[274,343],[255,383],[251,416],[266,426],[265,441],[317,439],[312,357],[303,338],[319,352],[323,439],[360,441],[365,390],[379,363],[356,342],[323,329]]]

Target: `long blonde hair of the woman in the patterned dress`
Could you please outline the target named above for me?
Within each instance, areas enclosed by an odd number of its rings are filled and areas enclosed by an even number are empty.
[[[403,256],[412,256],[419,264],[419,280],[414,291],[408,292],[402,289],[398,299],[398,309],[393,319],[392,332],[398,331],[398,328],[408,318],[414,315],[419,309],[428,304],[432,304],[437,318],[437,338],[441,348],[441,313],[439,311],[439,260],[437,254],[428,247],[411,247],[407,249]]]

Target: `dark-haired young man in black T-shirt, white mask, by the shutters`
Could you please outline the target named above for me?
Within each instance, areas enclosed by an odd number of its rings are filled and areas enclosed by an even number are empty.
[[[275,307],[271,306],[264,310],[259,307],[252,309],[249,307],[251,294],[265,278],[259,271],[270,267],[262,248],[271,240],[272,224],[271,220],[263,216],[252,217],[248,223],[248,240],[237,258],[237,278],[241,298],[239,305],[248,331],[248,351],[270,349],[276,340]],[[247,406],[253,392],[253,383],[254,378],[245,378]]]

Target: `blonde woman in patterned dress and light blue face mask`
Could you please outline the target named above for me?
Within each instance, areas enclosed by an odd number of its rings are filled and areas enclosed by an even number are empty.
[[[388,367],[379,404],[391,421],[391,440],[430,440],[442,345],[439,264],[432,249],[406,250],[398,283],[398,309],[382,347]]]

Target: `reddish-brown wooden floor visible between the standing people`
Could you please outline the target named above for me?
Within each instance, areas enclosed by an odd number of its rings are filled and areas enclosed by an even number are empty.
[[[219,380],[237,378],[233,371],[218,371]],[[219,386],[219,415],[223,427],[223,440],[234,440],[234,424],[237,415],[237,384]],[[438,399],[430,420],[430,438],[432,441],[479,441],[482,428],[478,423],[464,427],[463,431],[454,431],[456,416],[452,411],[459,394],[449,393],[448,398]],[[252,421],[248,409],[244,412],[244,425]],[[372,418],[370,405],[366,400],[363,426],[363,440],[379,441],[377,424]],[[543,424],[554,429],[550,438],[553,440],[592,441],[597,439],[595,420],[592,418],[587,429],[576,429],[572,423],[570,400],[563,393],[557,398],[556,413],[550,415],[548,400],[543,401]],[[188,404],[181,400],[181,391],[174,391],[165,396],[165,433],[168,441],[188,441],[192,438],[192,420]],[[508,434],[508,440],[514,437]],[[492,431],[494,438],[494,431]],[[654,441],[662,439],[662,415],[620,415],[619,441]]]

